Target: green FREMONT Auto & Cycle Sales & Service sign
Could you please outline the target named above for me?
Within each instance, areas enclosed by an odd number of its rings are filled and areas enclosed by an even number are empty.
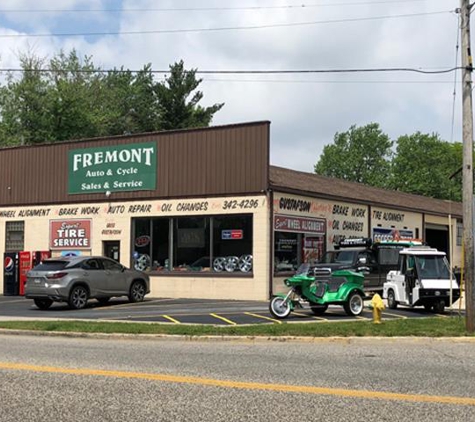
[[[76,149],[68,158],[70,194],[156,188],[156,142]]]

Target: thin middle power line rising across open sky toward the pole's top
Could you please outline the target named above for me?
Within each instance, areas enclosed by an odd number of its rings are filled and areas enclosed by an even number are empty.
[[[146,35],[146,34],[178,34],[178,33],[196,33],[196,32],[217,32],[217,31],[242,31],[252,29],[284,28],[295,26],[310,26],[332,23],[362,22],[382,19],[412,18],[419,16],[433,16],[440,14],[452,14],[453,10],[443,10],[438,12],[409,13],[403,15],[370,16],[363,18],[334,19],[311,22],[278,23],[268,25],[252,26],[229,26],[218,28],[196,28],[196,29],[157,29],[150,31],[110,31],[110,32],[72,32],[72,33],[52,33],[52,34],[0,34],[0,38],[43,38],[43,37],[77,37],[77,36],[107,36],[107,35]]]

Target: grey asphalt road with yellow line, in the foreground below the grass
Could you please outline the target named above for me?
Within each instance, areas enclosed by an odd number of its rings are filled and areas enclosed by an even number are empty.
[[[0,343],[1,422],[475,421],[470,340]]]

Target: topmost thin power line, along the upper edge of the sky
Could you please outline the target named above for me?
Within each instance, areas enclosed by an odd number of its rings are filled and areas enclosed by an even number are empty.
[[[232,10],[270,10],[270,9],[308,9],[335,6],[364,6],[397,3],[427,2],[428,0],[389,0],[361,1],[345,3],[306,3],[281,6],[240,6],[240,7],[159,7],[159,8],[127,8],[127,9],[0,9],[0,13],[130,13],[130,12],[195,12],[195,11],[232,11]]]

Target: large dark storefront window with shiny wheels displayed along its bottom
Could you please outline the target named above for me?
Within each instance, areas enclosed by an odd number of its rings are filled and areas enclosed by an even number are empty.
[[[250,273],[252,221],[252,215],[134,219],[134,266],[142,271]]]

